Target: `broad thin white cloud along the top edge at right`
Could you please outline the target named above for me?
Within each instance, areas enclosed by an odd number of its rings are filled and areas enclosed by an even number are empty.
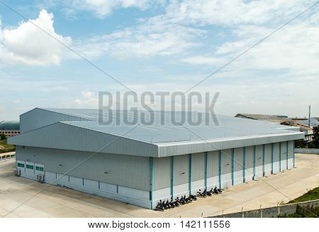
[[[306,1],[285,0],[184,0],[172,1],[163,20],[174,23],[234,26],[239,23],[260,24],[296,13],[308,6]]]

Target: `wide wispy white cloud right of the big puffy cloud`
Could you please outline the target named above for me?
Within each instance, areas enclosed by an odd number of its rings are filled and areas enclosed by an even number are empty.
[[[195,38],[204,34],[203,30],[174,24],[142,23],[123,31],[76,41],[74,50],[89,58],[105,53],[119,59],[174,55],[198,46],[200,43]]]

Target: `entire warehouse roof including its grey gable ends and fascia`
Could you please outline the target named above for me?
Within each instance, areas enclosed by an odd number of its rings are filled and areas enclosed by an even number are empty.
[[[213,123],[212,118],[208,125],[204,120],[193,125],[188,121],[190,116],[209,118],[203,113],[184,115],[181,112],[155,111],[152,115],[141,116],[140,111],[108,111],[99,117],[99,111],[94,109],[33,109],[21,115],[22,134],[10,138],[9,143],[164,157],[276,143],[304,136],[286,126],[231,116],[216,116],[219,125]],[[101,123],[111,118],[113,123]],[[135,123],[128,125],[125,118]],[[172,118],[184,123],[172,123]],[[142,123],[143,120],[154,122],[147,125]]]

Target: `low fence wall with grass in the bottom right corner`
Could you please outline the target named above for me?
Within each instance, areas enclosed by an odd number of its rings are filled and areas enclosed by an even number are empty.
[[[220,214],[217,216],[210,216],[210,218],[272,218],[277,217],[279,215],[289,215],[289,214],[295,214],[297,206],[313,206],[318,207],[319,206],[319,200],[314,201],[304,201],[304,202],[298,202],[293,204],[284,204],[264,209],[254,209],[250,211],[242,211],[232,214]]]

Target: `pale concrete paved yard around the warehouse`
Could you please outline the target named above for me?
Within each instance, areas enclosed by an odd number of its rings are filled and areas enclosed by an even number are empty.
[[[205,217],[276,206],[319,186],[319,155],[296,154],[295,169],[159,212],[15,177],[14,164],[15,160],[0,161],[1,217]]]

